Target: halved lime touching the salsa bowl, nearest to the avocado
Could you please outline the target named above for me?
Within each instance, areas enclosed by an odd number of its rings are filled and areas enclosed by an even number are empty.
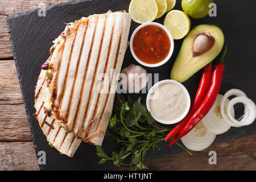
[[[180,10],[170,11],[164,19],[164,26],[168,28],[172,34],[172,38],[175,40],[182,39],[188,34],[190,24],[188,15]]]

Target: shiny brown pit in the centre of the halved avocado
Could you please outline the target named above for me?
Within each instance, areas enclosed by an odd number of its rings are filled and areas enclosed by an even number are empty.
[[[193,57],[208,52],[214,45],[215,39],[212,35],[203,32],[196,36],[193,43]]]

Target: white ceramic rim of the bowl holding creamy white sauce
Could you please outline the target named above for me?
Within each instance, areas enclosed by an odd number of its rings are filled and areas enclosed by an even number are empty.
[[[149,105],[149,97],[150,97],[150,94],[154,91],[154,89],[161,85],[161,84],[166,84],[166,83],[172,83],[172,84],[176,84],[178,86],[180,86],[180,88],[183,90],[183,92],[185,93],[185,96],[187,97],[187,107],[185,108],[185,111],[183,114],[180,115],[179,118],[176,118],[174,120],[171,120],[171,121],[166,121],[166,120],[163,120],[163,119],[160,119],[158,117],[156,117],[153,113],[152,113],[152,110],[150,108],[150,105]],[[147,105],[147,110],[150,111],[152,117],[160,122],[160,123],[163,123],[163,124],[166,124],[166,125],[172,125],[174,123],[177,123],[179,121],[181,121],[187,114],[188,114],[188,111],[189,111],[189,108],[190,108],[190,105],[191,105],[191,100],[190,100],[190,96],[189,96],[189,93],[188,93],[188,90],[185,88],[184,85],[182,85],[180,82],[177,82],[175,80],[162,80],[162,81],[159,81],[157,82],[155,85],[153,85],[151,87],[151,89],[148,91],[148,94],[147,94],[147,99],[146,99],[146,105]]]

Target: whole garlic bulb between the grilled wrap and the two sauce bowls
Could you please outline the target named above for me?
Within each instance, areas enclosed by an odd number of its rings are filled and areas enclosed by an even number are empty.
[[[121,84],[129,93],[138,93],[147,85],[147,71],[139,65],[130,64],[121,72]]]

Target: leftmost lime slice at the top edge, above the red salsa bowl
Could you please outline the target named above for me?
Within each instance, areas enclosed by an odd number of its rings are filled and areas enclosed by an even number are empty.
[[[152,22],[158,15],[158,4],[155,0],[132,0],[129,13],[136,23]]]

